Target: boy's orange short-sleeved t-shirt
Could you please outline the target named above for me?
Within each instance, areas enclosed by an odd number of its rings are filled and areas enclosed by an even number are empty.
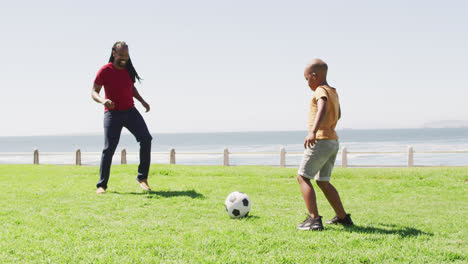
[[[309,131],[311,130],[315,115],[317,114],[317,101],[322,98],[327,98],[327,111],[323,120],[320,122],[319,129],[317,130],[316,139],[338,139],[335,132],[336,124],[340,117],[340,102],[336,89],[323,85],[317,87],[314,92],[314,97],[310,103],[309,111]]]

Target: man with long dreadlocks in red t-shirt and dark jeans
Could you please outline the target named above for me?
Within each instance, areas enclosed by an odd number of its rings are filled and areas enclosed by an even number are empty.
[[[112,46],[109,63],[104,65],[94,80],[92,98],[104,105],[104,150],[100,165],[100,179],[97,183],[97,193],[106,193],[109,181],[110,167],[120,133],[126,127],[140,142],[140,165],[137,181],[141,188],[151,191],[148,185],[148,172],[151,163],[151,134],[145,120],[135,108],[133,97],[141,102],[146,112],[149,104],[141,97],[134,83],[140,81],[140,76],[133,67],[128,54],[128,46],[119,41]],[[99,95],[104,86],[105,98]]]

